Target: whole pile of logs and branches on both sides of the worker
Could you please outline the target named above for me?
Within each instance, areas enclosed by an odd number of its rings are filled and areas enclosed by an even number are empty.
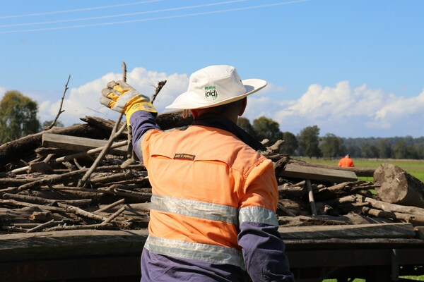
[[[192,123],[180,114],[159,115],[158,123],[164,130]],[[0,233],[147,227],[151,185],[131,133],[120,121],[81,119],[0,146]],[[424,185],[400,168],[316,166],[277,154],[279,144],[261,153],[275,164],[280,226],[424,225]]]

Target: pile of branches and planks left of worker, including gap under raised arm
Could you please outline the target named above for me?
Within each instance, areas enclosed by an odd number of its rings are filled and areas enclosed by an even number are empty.
[[[0,233],[147,227],[151,186],[126,124],[81,120],[0,146]],[[158,116],[165,130],[191,122]]]

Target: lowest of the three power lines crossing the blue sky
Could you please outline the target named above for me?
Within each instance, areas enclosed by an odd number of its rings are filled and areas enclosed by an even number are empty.
[[[140,22],[147,22],[151,20],[167,20],[171,18],[187,18],[192,16],[203,16],[203,15],[211,15],[211,14],[217,14],[217,13],[228,13],[233,11],[245,11],[245,10],[253,10],[258,8],[268,8],[272,6],[282,6],[282,5],[289,5],[289,4],[298,4],[302,2],[308,2],[312,0],[293,0],[293,1],[285,1],[285,2],[278,2],[273,4],[264,4],[264,5],[258,5],[258,6],[248,6],[248,7],[240,7],[240,8],[230,8],[226,10],[218,10],[218,11],[208,11],[208,12],[201,12],[201,13],[187,13],[182,15],[175,15],[175,16],[165,16],[165,17],[156,17],[156,18],[143,18],[138,20],[122,20],[117,22],[110,22],[110,23],[92,23],[89,25],[69,25],[66,27],[45,27],[45,28],[36,28],[31,30],[7,30],[7,31],[0,31],[0,34],[5,33],[21,33],[21,32],[40,32],[40,31],[47,31],[47,30],[69,30],[73,28],[83,28],[83,27],[99,27],[99,26],[105,26],[105,25],[121,25],[124,23],[140,23]]]

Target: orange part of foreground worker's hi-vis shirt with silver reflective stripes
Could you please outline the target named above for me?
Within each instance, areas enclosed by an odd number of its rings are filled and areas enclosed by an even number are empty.
[[[149,251],[244,268],[240,224],[278,226],[272,161],[232,133],[152,129],[141,151],[152,185]]]

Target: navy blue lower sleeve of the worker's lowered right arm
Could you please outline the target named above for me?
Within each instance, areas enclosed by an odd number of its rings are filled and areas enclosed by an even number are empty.
[[[253,282],[295,281],[278,226],[244,222],[240,225],[238,243]]]

